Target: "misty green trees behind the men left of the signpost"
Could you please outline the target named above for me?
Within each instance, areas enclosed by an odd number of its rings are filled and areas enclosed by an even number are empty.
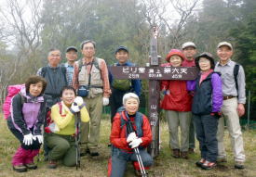
[[[45,1],[43,48],[58,46],[64,51],[68,45],[78,47],[84,40],[92,39],[97,56],[109,64],[115,61],[115,48],[121,44],[128,46],[133,62],[139,62],[138,41],[145,26],[138,8],[133,0]]]

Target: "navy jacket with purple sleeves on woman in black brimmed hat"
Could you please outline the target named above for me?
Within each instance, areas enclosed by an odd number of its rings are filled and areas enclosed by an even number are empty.
[[[187,82],[188,91],[195,91],[192,112],[204,115],[221,111],[223,97],[220,73],[211,72],[200,84],[199,81],[200,74],[195,81]]]

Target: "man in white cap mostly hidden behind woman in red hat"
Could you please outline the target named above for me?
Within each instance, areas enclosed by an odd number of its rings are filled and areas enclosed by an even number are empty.
[[[193,42],[186,42],[182,44],[182,53],[186,57],[182,62],[182,67],[195,67],[195,55],[196,55],[196,46]],[[191,116],[192,117],[192,116]],[[188,153],[194,153],[195,149],[195,126],[193,121],[190,121],[189,126],[189,148]]]

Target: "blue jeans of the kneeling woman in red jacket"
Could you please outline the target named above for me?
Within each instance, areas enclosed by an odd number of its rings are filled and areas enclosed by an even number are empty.
[[[141,160],[144,167],[149,167],[153,164],[153,158],[144,149],[140,149]],[[138,161],[135,153],[128,153],[121,149],[115,148],[112,151],[111,157],[111,177],[122,177],[127,168],[128,161]]]

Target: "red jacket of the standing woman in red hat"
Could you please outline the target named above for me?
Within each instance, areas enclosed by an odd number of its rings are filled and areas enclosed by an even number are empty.
[[[161,66],[170,66],[165,63]],[[191,111],[192,96],[189,95],[186,81],[168,80],[161,82],[161,90],[167,90],[169,95],[165,95],[160,103],[160,107],[166,110]]]

